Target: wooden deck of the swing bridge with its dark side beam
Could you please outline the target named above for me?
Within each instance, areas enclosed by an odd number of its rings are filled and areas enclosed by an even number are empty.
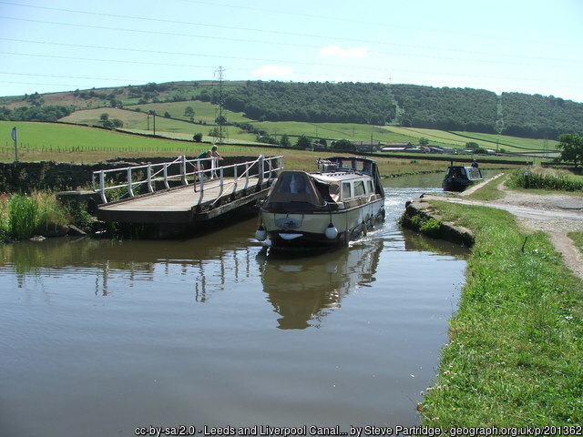
[[[247,188],[245,188],[247,186]],[[213,219],[232,209],[256,203],[267,196],[270,182],[259,185],[259,178],[204,182],[204,190],[194,191],[192,185],[170,188],[99,205],[97,219],[130,223],[193,223]]]

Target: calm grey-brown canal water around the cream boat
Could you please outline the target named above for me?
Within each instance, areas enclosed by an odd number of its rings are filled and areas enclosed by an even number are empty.
[[[397,219],[440,179],[388,181],[384,225],[319,255],[262,253],[256,218],[1,247],[0,435],[418,424],[465,249]]]

